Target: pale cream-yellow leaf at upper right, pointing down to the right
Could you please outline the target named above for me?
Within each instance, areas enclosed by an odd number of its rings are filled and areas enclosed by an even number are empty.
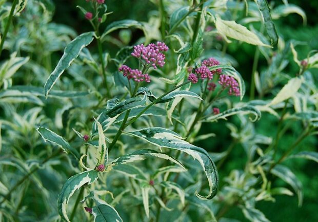
[[[226,36],[252,45],[268,46],[256,34],[249,31],[245,26],[237,24],[235,21],[222,20],[220,16],[216,16],[215,27],[227,42],[230,41]]]

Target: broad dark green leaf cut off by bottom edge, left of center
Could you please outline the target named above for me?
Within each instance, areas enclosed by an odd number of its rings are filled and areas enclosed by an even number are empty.
[[[118,212],[110,205],[97,205],[92,208],[94,222],[123,222],[123,219]]]

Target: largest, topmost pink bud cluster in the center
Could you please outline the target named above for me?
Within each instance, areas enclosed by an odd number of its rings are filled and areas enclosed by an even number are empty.
[[[134,46],[131,55],[135,58],[141,58],[145,64],[151,64],[153,68],[163,67],[165,65],[165,55],[162,53],[168,51],[168,46],[165,43],[157,42],[156,44],[144,44]]]

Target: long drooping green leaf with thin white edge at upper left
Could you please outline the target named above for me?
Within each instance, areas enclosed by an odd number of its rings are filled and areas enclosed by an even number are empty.
[[[62,75],[65,69],[67,69],[71,63],[78,57],[79,52],[88,46],[94,39],[94,32],[85,32],[78,35],[74,40],[72,40],[64,50],[62,58],[58,61],[55,69],[49,76],[48,80],[44,85],[44,95],[47,97],[51,88],[57,81],[57,79]]]

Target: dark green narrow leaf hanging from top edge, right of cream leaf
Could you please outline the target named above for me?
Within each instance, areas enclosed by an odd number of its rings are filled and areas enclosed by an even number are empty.
[[[277,45],[279,36],[277,35],[275,25],[272,21],[267,0],[255,0],[255,2],[257,3],[257,6],[259,6],[259,9],[263,16],[265,29],[270,38],[271,45]]]

